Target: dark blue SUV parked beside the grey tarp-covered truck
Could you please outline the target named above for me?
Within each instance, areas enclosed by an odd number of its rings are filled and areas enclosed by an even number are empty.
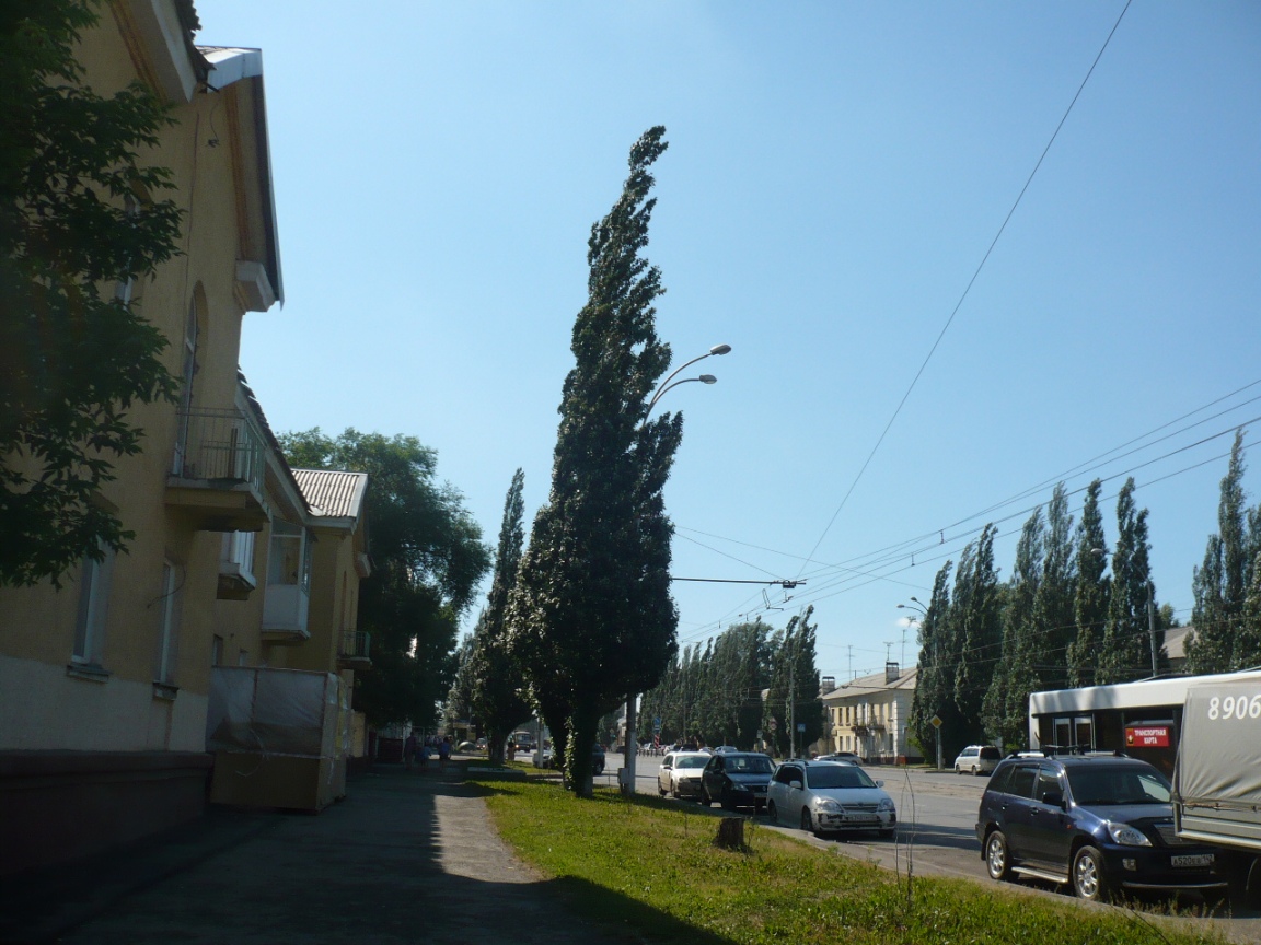
[[[976,837],[992,878],[1071,883],[1084,900],[1119,888],[1224,891],[1213,848],[1174,834],[1169,781],[1137,759],[1008,757],[981,798]]]

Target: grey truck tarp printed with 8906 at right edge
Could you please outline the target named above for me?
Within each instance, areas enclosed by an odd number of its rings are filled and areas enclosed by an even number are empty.
[[[1183,835],[1261,849],[1261,673],[1188,688],[1174,811]]]

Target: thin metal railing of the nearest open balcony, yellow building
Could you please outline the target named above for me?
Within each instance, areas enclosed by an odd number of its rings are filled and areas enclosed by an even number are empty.
[[[233,408],[207,407],[180,410],[178,416],[173,475],[262,489],[262,436],[248,417]]]

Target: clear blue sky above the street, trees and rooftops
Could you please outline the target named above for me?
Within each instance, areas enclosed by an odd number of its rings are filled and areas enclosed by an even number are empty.
[[[513,470],[546,499],[588,232],[665,125],[657,329],[734,349],[666,402],[673,573],[806,578],[676,583],[681,641],[813,604],[821,672],[874,670],[985,522],[1006,577],[1055,481],[1120,475],[1111,543],[1131,469],[1188,620],[1261,436],[1261,6],[1135,0],[963,297],[1122,9],[202,0],[265,62],[286,304],[242,367],[276,430],[436,449],[493,542]]]

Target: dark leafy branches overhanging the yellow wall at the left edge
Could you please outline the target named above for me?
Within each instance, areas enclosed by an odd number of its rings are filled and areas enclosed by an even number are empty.
[[[170,122],[140,83],[102,97],[74,59],[76,0],[0,10],[0,585],[62,576],[134,538],[93,501],[141,450],[136,403],[173,399],[166,338],[120,291],[177,252]]]

